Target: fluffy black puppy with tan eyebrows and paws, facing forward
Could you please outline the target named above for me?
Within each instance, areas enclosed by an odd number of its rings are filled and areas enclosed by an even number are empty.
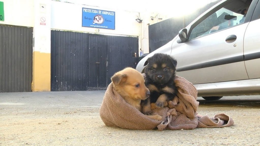
[[[150,97],[142,101],[144,114],[151,113],[151,108],[162,108],[176,96],[174,83],[177,61],[170,55],[157,53],[147,59],[145,85],[150,90]]]

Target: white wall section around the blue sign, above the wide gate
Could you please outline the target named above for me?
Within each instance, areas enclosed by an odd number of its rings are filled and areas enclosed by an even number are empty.
[[[82,8],[115,12],[115,30],[82,27]],[[51,1],[51,29],[101,34],[139,36],[138,12],[103,9],[100,7]]]

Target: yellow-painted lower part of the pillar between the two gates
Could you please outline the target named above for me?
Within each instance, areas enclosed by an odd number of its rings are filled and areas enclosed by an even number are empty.
[[[33,91],[50,91],[50,53],[33,52]]]

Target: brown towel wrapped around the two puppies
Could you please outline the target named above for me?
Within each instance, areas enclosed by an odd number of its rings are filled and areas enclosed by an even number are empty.
[[[177,96],[169,107],[154,109],[153,114],[164,117],[163,121],[156,121],[146,117],[139,110],[132,107],[109,84],[100,107],[100,117],[107,126],[133,130],[194,129],[205,127],[228,127],[234,122],[226,114],[217,114],[213,118],[197,114],[197,90],[186,79],[176,76],[174,80],[178,89]]]

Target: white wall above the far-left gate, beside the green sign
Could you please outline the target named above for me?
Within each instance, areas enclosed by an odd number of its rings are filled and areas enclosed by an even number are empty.
[[[4,2],[4,21],[0,24],[34,26],[34,0],[1,0]]]

